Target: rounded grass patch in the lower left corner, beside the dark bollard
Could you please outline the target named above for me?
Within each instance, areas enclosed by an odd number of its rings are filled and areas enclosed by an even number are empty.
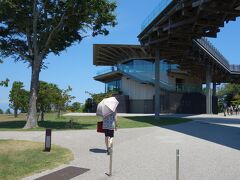
[[[51,152],[43,152],[43,147],[39,142],[0,140],[0,179],[22,179],[73,160],[68,149],[53,145]]]

